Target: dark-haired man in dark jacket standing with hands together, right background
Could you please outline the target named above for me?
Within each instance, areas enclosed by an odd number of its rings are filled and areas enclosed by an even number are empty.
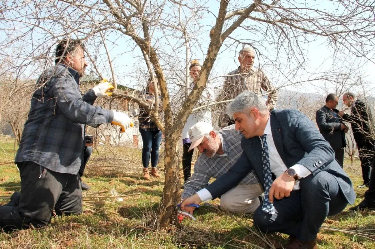
[[[335,151],[336,160],[343,167],[345,132],[348,132],[348,127],[342,123],[342,118],[338,114],[339,110],[336,109],[338,103],[339,98],[334,93],[330,93],[326,98],[326,105],[317,110],[315,120],[320,133]]]

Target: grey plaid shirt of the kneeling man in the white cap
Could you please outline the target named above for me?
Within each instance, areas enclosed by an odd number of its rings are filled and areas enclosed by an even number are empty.
[[[237,162],[242,155],[241,139],[242,134],[234,129],[234,124],[227,126],[219,131],[224,154],[214,155],[208,158],[205,154],[198,157],[194,165],[194,173],[190,180],[185,184],[181,198],[185,199],[195,194],[198,190],[206,187],[211,177],[218,178],[222,176]],[[257,184],[259,180],[254,171],[246,175],[239,184]]]

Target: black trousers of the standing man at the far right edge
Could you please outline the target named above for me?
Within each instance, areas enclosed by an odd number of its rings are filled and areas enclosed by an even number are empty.
[[[370,182],[372,157],[374,156],[374,144],[372,142],[357,143],[358,156],[361,161],[363,184]]]

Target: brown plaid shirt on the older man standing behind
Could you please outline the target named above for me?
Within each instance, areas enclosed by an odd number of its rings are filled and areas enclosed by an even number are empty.
[[[240,67],[236,70],[228,73],[225,77],[223,91],[216,99],[217,102],[235,99],[240,93],[244,91],[251,91],[257,94],[262,93],[262,89],[269,93],[267,102],[272,107],[275,107],[276,100],[278,99],[277,92],[275,88],[268,80],[266,74],[261,70],[255,69],[249,73],[241,73]],[[228,126],[230,120],[229,116],[226,114],[226,107],[228,102],[219,105],[219,126]]]

